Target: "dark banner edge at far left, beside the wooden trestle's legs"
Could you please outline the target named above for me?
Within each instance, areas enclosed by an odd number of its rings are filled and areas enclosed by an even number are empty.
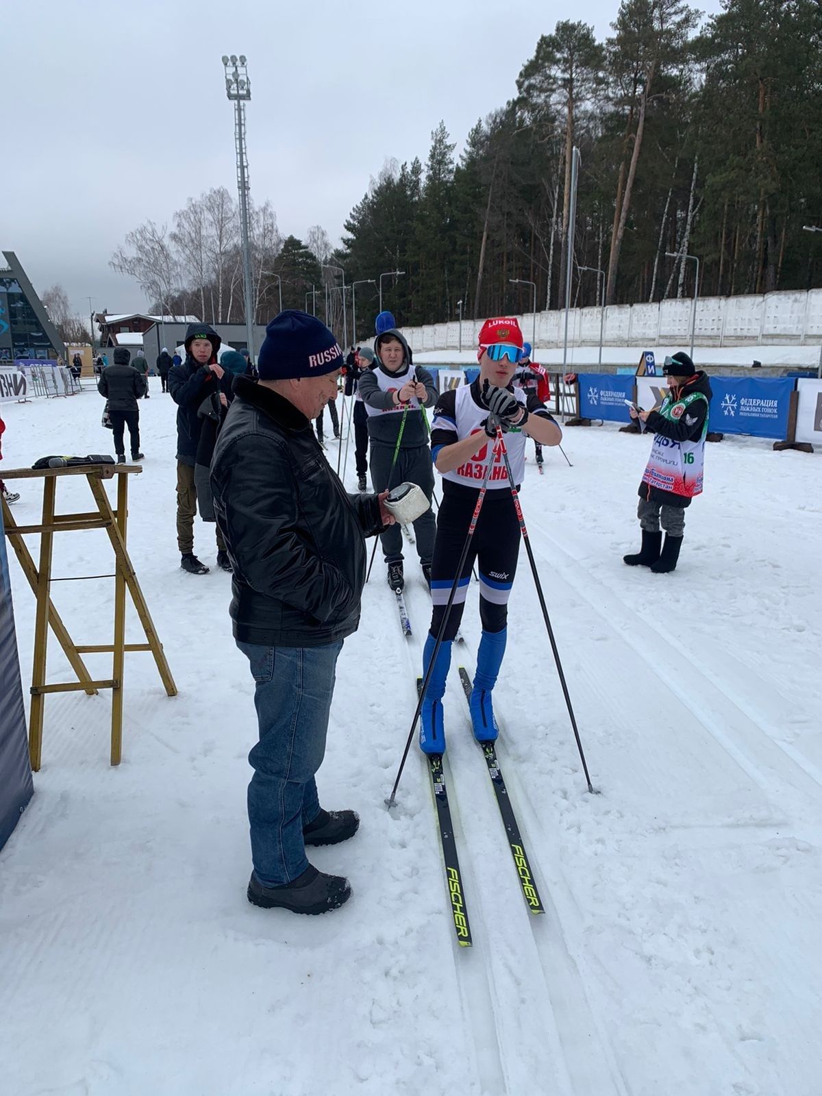
[[[9,840],[34,785],[28,765],[23,690],[20,685],[18,640],[11,604],[5,534],[0,507],[0,848]]]

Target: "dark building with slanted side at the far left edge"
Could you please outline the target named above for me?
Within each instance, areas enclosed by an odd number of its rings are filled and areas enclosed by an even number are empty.
[[[18,256],[0,255],[0,362],[65,358],[66,346]]]

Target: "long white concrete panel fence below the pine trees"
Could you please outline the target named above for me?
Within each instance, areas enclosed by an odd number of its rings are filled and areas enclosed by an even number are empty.
[[[663,300],[655,305],[612,305],[605,308],[603,329],[606,346],[677,345],[690,342],[690,299]],[[526,340],[533,341],[534,313],[517,317]],[[601,308],[573,308],[568,318],[569,346],[596,346],[602,324]],[[477,344],[481,320],[463,321],[463,349]],[[538,312],[536,345],[561,346],[563,311]],[[806,345],[822,341],[822,289],[768,293],[755,297],[706,297],[697,301],[694,318],[698,346]],[[403,328],[412,346],[420,350],[456,350],[459,322],[429,323]]]

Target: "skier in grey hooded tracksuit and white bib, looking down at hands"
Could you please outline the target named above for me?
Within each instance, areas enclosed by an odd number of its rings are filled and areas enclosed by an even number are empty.
[[[390,490],[399,483],[416,483],[429,502],[434,493],[434,468],[429,446],[429,425],[423,408],[436,403],[437,391],[427,369],[413,366],[411,350],[393,328],[377,336],[374,368],[359,378],[359,395],[368,415],[370,473],[374,490]],[[431,585],[436,521],[431,510],[414,522],[416,551],[425,581]],[[402,590],[402,533],[392,525],[380,534],[388,564],[388,584]]]

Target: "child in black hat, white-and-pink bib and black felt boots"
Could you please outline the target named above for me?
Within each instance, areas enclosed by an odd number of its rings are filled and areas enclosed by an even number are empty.
[[[685,351],[666,357],[667,395],[659,409],[630,409],[653,431],[653,446],[642,482],[639,484],[637,517],[642,529],[642,547],[624,556],[629,567],[650,567],[655,574],[676,569],[685,532],[685,507],[703,491],[705,436],[712,391],[708,376],[697,370]],[[665,543],[662,543],[662,529]]]

